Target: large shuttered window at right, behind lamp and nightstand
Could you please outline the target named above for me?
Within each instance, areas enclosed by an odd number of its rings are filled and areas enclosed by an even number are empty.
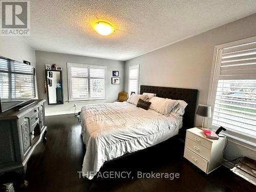
[[[223,126],[227,135],[255,145],[256,38],[216,47],[210,102],[210,125]]]

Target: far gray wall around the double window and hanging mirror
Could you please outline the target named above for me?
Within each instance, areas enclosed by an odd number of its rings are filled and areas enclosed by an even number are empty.
[[[56,63],[56,66],[62,67],[62,82],[63,82],[63,97],[64,104],[48,105],[46,103],[46,115],[73,113],[74,102],[68,102],[68,71],[67,62],[85,63],[92,65],[107,66],[106,74],[106,94],[108,100],[104,101],[84,101],[77,103],[77,111],[81,110],[81,107],[85,104],[101,103],[101,102],[113,102],[117,99],[118,93],[123,91],[124,88],[124,62],[110,59],[101,59],[95,57],[86,57],[78,55],[69,55],[61,53],[52,53],[45,51],[35,51],[36,56],[36,74],[37,74],[37,86],[39,98],[47,99],[47,95],[44,93],[44,81],[45,81],[45,65],[50,63]],[[120,84],[111,84],[112,71],[119,71],[119,77],[121,79]]]

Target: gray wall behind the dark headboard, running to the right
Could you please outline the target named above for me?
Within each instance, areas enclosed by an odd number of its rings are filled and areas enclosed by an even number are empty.
[[[125,61],[124,90],[128,91],[129,66],[139,64],[140,84],[198,89],[198,102],[205,104],[215,46],[252,36],[256,36],[256,14]],[[201,118],[196,117],[196,125],[200,124]],[[255,152],[231,141],[225,155],[256,159]]]

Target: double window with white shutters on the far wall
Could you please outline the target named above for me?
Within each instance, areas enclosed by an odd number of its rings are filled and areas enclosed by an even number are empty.
[[[106,98],[105,66],[68,63],[69,100]]]

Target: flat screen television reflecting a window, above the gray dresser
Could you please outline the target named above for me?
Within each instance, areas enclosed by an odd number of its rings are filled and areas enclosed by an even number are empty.
[[[35,98],[33,66],[0,56],[0,113]]]

